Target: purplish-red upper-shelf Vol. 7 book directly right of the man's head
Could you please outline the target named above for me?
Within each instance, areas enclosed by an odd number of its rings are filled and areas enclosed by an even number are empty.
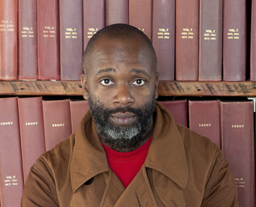
[[[175,0],[153,1],[152,7],[152,44],[159,80],[174,80]]]

